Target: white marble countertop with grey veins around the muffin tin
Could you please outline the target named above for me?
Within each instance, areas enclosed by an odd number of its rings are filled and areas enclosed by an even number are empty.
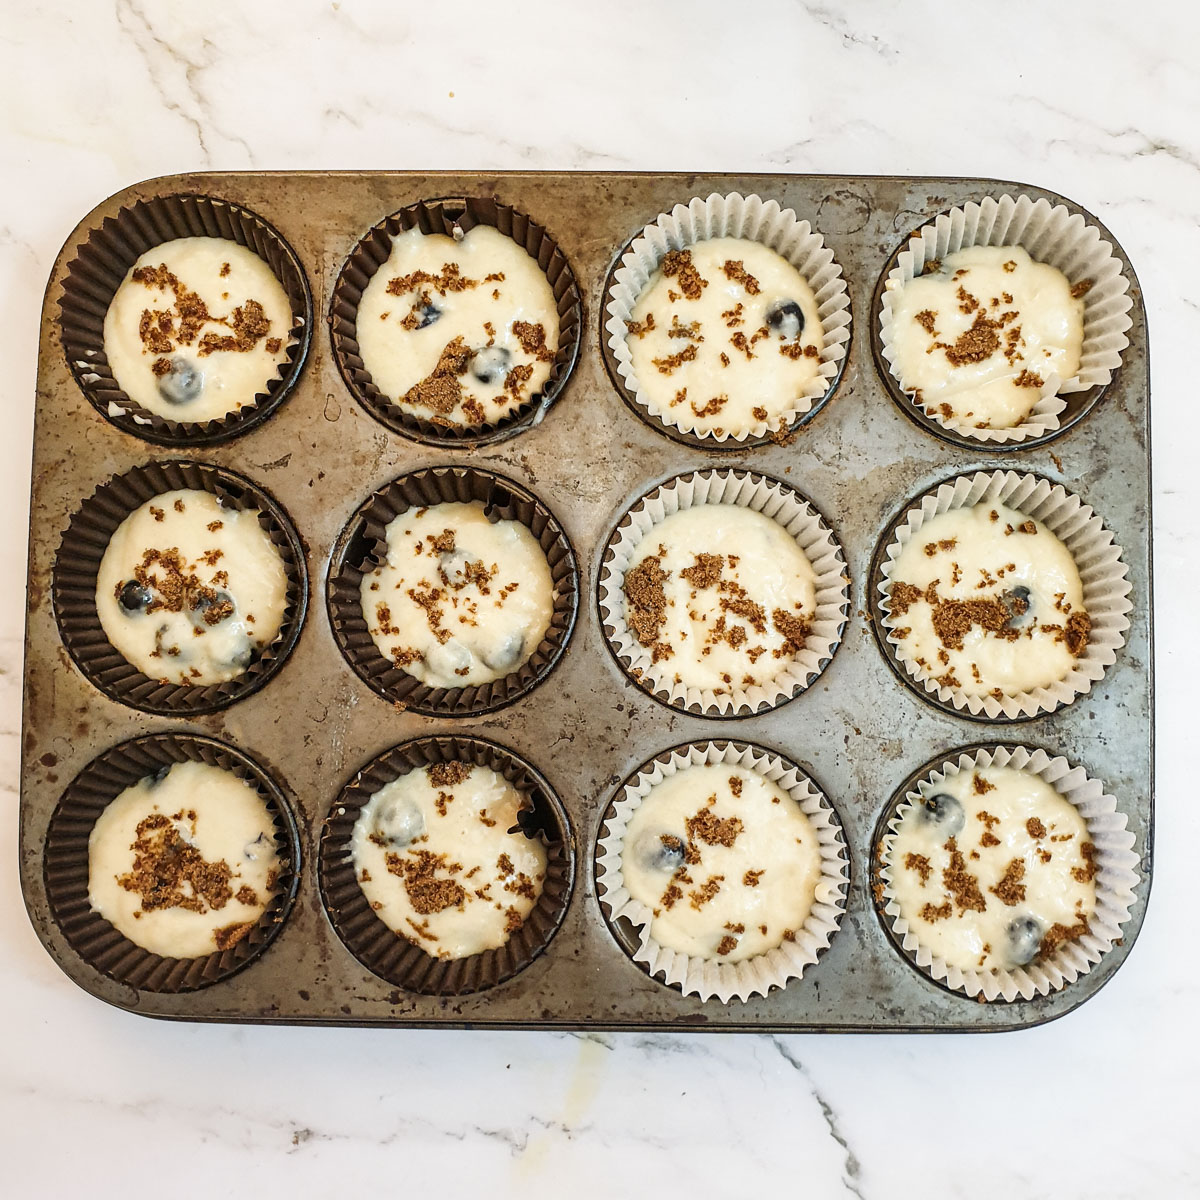
[[[6,5],[0,29],[0,1162],[7,1194],[1200,1193],[1186,754],[1200,584],[1200,17],[1018,0],[584,10]],[[584,14],[584,12],[589,14]],[[973,12],[973,16],[968,16]],[[420,16],[418,16],[418,13]],[[426,16],[428,14],[428,16]],[[532,31],[544,67],[528,61]],[[556,55],[562,65],[556,66]],[[955,122],[960,124],[955,124]],[[71,984],[17,881],[37,314],[73,224],[194,168],[602,168],[1026,179],[1106,222],[1150,313],[1158,838],[1128,964],[990,1037],[596,1036],[148,1021]],[[920,1141],[916,1139],[919,1138]],[[1076,1145],[1078,1142],[1078,1145]]]

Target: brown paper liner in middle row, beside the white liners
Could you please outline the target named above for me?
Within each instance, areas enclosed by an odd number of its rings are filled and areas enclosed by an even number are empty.
[[[517,671],[469,688],[433,688],[380,654],[362,616],[362,577],[388,557],[388,524],[408,509],[479,500],[498,521],[520,521],[538,540],[554,587],[553,613],[534,653]],[[425,716],[491,713],[528,695],[558,665],[575,630],[578,566],[563,527],[520,484],[474,467],[430,467],[401,475],[359,508],[334,547],[329,570],[329,618],[354,672],[384,700]]]

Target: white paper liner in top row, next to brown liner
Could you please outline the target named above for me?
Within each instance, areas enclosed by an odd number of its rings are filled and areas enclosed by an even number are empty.
[[[763,200],[758,196],[742,196],[738,192],[730,196],[714,192],[708,199],[697,196],[686,204],[677,204],[670,212],[660,214],[648,224],[622,256],[620,266],[608,289],[605,308],[608,319],[605,330],[617,372],[629,394],[662,425],[715,442],[745,442],[748,438],[766,437],[776,430],[780,416],[774,418],[773,426],[757,421],[749,428],[725,430],[720,434],[713,430],[697,428],[690,410],[662,408],[642,394],[626,341],[629,328],[625,322],[630,319],[637,298],[664,257],[672,250],[684,250],[710,238],[744,238],[761,242],[791,263],[812,289],[817,316],[824,331],[821,364],[804,395],[781,414],[785,428],[791,427],[829,391],[841,371],[850,347],[850,289],[842,278],[841,268],[834,262],[833,251],[808,221],[800,221],[792,209],[781,209],[776,200]]]

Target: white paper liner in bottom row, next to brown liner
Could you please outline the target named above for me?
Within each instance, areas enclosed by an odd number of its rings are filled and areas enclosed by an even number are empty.
[[[812,908],[793,942],[781,942],[764,954],[742,962],[714,962],[660,946],[650,936],[654,913],[625,888],[622,848],[625,830],[647,793],[664,779],[700,763],[727,763],[756,770],[778,784],[800,806],[821,848],[821,878]],[[748,1001],[766,996],[799,979],[817,961],[846,911],[850,857],[841,821],[822,791],[794,763],[762,746],[744,742],[692,742],[664,750],[643,763],[620,786],[601,817],[595,848],[596,894],[608,926],[626,954],[652,978],[677,988],[685,996]]]

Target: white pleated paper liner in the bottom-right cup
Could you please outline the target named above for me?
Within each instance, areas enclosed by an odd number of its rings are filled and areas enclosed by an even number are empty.
[[[1088,932],[1075,941],[1063,942],[1045,961],[1034,961],[1014,971],[962,971],[934,955],[920,944],[908,922],[900,916],[900,905],[890,890],[889,854],[905,814],[913,804],[936,792],[947,776],[988,767],[1013,767],[1039,775],[1079,810],[1087,824],[1087,836],[1096,845],[1096,912],[1088,917]],[[947,758],[938,769],[930,772],[914,790],[906,793],[888,822],[888,832],[880,846],[883,913],[917,966],[947,988],[989,1001],[1045,996],[1087,974],[1121,937],[1121,926],[1129,919],[1134,889],[1140,882],[1136,872],[1138,856],[1133,850],[1134,835],[1126,824],[1126,815],[1117,811],[1117,802],[1105,793],[1099,780],[1090,779],[1082,767],[1072,767],[1061,756],[1051,758],[1045,750],[995,746]]]

